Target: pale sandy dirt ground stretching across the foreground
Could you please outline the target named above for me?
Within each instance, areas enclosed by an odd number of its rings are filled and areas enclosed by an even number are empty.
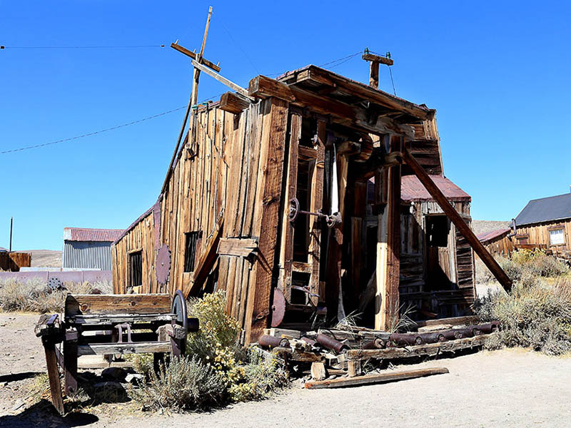
[[[478,352],[407,368],[449,374],[345,389],[300,384],[263,402],[203,414],[148,414],[133,403],[56,417],[30,397],[44,355],[37,315],[0,313],[0,427],[569,427],[571,357],[526,350]]]

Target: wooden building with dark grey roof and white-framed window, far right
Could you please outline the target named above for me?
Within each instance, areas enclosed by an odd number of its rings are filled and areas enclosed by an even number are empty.
[[[571,193],[533,199],[515,218],[515,247],[571,254]]]

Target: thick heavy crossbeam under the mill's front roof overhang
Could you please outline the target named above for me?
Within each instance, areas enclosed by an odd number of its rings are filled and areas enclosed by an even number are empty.
[[[414,137],[414,131],[410,126],[401,125],[392,118],[386,116],[372,118],[364,107],[350,106],[333,98],[305,91],[297,86],[288,86],[266,76],[253,78],[248,86],[248,93],[256,98],[269,98],[271,96],[281,98],[294,106],[308,107],[315,113],[331,116],[336,123],[360,128],[366,132],[397,133],[407,135],[409,138]]]

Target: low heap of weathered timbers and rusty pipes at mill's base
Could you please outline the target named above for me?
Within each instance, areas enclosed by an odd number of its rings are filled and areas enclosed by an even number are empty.
[[[264,331],[265,334],[258,340],[258,347],[271,350],[293,372],[310,374],[312,382],[306,382],[305,387],[340,387],[393,380],[386,373],[380,377],[375,375],[374,378],[360,377],[363,374],[362,362],[375,361],[380,365],[382,362],[410,357],[435,357],[443,353],[478,348],[499,328],[498,322],[473,323],[476,321],[474,317],[442,321],[441,324],[432,322],[433,325],[424,325],[416,332],[406,333],[363,327],[310,332],[271,328]],[[454,322],[455,325],[447,324],[447,321]],[[310,369],[303,370],[304,367]],[[433,369],[428,372],[413,370],[414,375],[409,373],[411,371],[397,374],[400,376],[398,379],[408,379],[444,373],[443,370],[446,369],[439,368],[436,372]],[[335,379],[336,377],[340,379]]]

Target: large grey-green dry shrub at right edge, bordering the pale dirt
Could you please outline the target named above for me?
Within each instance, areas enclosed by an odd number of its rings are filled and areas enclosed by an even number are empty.
[[[490,293],[477,302],[483,320],[499,320],[502,325],[488,348],[531,347],[547,355],[571,352],[571,282],[549,284],[533,278],[530,284],[517,282],[510,294]]]

